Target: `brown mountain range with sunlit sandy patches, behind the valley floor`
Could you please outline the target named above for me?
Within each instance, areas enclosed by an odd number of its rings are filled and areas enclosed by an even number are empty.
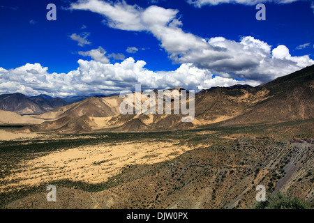
[[[236,85],[207,89],[195,95],[195,118],[191,123],[182,122],[183,115],[174,115],[173,110],[167,115],[122,115],[119,112],[122,101],[119,95],[91,97],[38,116],[47,121],[31,130],[129,132],[202,128],[213,123],[250,125],[305,120],[314,118],[313,89],[314,66],[262,86]],[[170,89],[178,90],[181,89]]]

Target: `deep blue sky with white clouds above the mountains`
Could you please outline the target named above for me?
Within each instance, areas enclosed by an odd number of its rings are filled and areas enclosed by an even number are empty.
[[[255,19],[260,2],[266,21]],[[0,93],[256,86],[314,64],[313,10],[306,0],[1,1]]]

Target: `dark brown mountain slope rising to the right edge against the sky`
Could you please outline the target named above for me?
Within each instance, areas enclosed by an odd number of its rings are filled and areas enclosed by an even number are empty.
[[[243,114],[223,125],[293,121],[314,118],[314,66],[279,77],[257,87],[267,89],[271,97],[247,107]]]

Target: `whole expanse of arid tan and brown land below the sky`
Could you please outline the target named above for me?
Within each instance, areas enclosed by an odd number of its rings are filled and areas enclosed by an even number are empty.
[[[0,111],[0,207],[251,208],[257,185],[313,207],[313,80],[311,66],[200,91],[192,123],[119,114],[119,95]]]

